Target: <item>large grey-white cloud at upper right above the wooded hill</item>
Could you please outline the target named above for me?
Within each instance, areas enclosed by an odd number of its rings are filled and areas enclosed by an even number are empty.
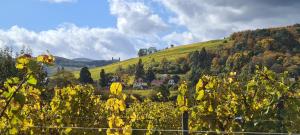
[[[173,25],[185,27],[200,40],[228,36],[232,32],[300,21],[300,1],[290,0],[158,0],[174,13]]]

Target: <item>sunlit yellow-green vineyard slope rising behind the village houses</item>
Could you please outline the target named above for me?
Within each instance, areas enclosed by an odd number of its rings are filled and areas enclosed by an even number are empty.
[[[153,54],[150,54],[147,56],[139,57],[139,58],[141,58],[143,60],[145,67],[147,67],[153,58],[156,61],[160,61],[163,58],[167,58],[168,60],[172,61],[178,57],[186,56],[188,53],[190,53],[192,51],[200,50],[202,47],[205,47],[208,50],[214,50],[218,46],[223,45],[224,44],[223,41],[224,40],[212,40],[212,41],[207,41],[207,42],[200,42],[200,43],[177,46],[174,48],[161,50],[159,52],[156,52],[156,53],[153,53]],[[132,59],[128,59],[125,61],[106,65],[103,67],[91,68],[90,72],[92,74],[92,78],[94,80],[99,79],[99,73],[100,73],[101,69],[104,69],[106,72],[114,72],[117,69],[117,67],[120,65],[122,65],[122,67],[127,67],[130,64],[137,63],[139,58],[132,58]],[[79,77],[79,71],[74,72],[74,74],[76,77]]]

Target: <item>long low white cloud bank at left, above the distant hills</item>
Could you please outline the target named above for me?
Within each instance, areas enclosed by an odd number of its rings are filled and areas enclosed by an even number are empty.
[[[50,53],[67,58],[122,59],[135,56],[136,43],[116,29],[79,28],[63,25],[57,29],[34,32],[13,26],[0,30],[0,46],[20,49],[29,46],[35,55]]]

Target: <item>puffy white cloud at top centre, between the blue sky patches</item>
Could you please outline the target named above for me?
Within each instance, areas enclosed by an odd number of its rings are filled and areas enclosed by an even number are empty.
[[[110,12],[117,16],[117,28],[135,36],[157,34],[168,28],[163,19],[141,2],[109,0]]]

